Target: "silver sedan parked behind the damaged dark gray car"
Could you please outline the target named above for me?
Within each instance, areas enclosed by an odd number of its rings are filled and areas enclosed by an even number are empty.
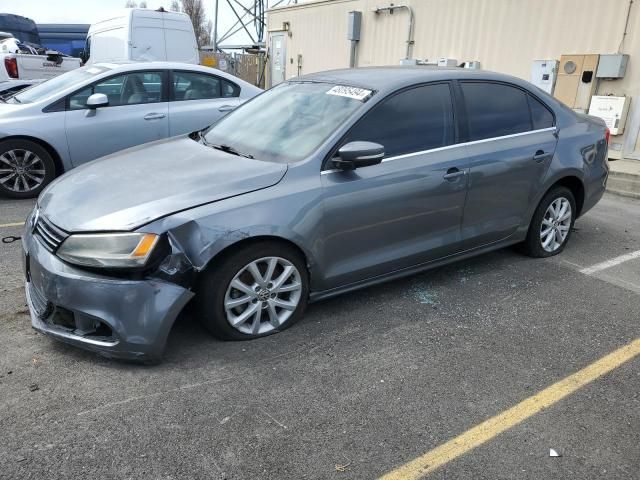
[[[201,130],[261,91],[219,70],[183,63],[72,70],[0,101],[0,195],[36,197],[73,167]]]

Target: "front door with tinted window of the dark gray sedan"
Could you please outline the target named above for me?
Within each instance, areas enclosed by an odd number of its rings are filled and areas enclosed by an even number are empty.
[[[448,83],[395,94],[341,144],[382,144],[379,165],[322,172],[326,288],[429,262],[460,250],[466,151],[454,145]]]

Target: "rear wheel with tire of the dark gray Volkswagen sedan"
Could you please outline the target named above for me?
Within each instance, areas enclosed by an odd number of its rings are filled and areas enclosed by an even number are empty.
[[[551,257],[562,252],[569,241],[576,218],[576,201],[566,187],[551,189],[536,209],[524,251],[531,257]]]

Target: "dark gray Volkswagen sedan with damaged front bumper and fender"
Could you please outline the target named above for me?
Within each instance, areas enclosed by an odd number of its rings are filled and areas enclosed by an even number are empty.
[[[54,181],[23,236],[31,320],[157,361],[190,301],[217,337],[252,339],[309,301],[507,245],[555,255],[604,192],[607,141],[600,120],[510,76],[299,77]]]

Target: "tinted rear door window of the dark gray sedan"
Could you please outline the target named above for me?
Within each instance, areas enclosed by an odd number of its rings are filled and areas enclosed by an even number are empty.
[[[469,141],[532,130],[529,96],[500,83],[462,82]]]

